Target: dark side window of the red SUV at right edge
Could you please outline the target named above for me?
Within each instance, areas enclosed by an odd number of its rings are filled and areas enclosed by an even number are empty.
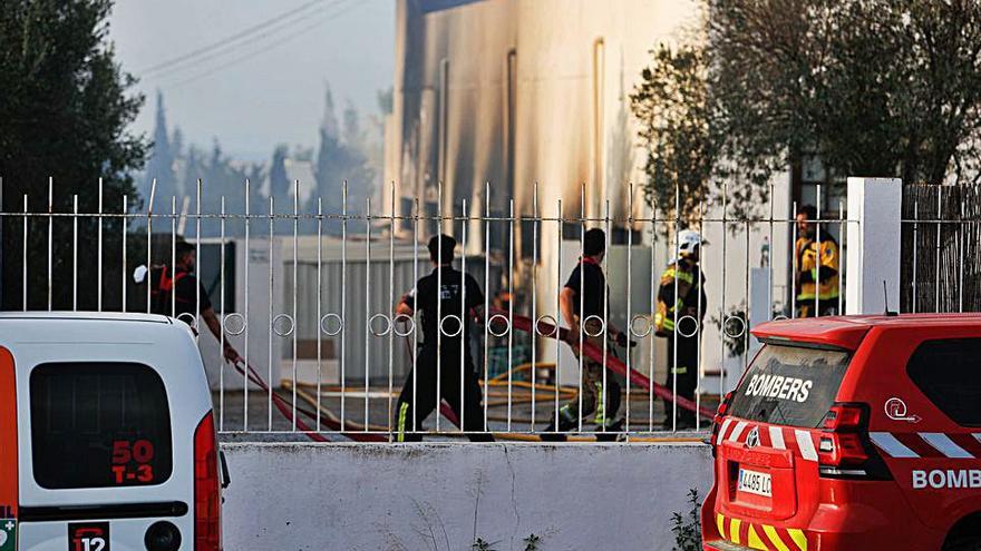
[[[979,354],[981,338],[926,341],[913,352],[906,373],[955,423],[981,426]]]

